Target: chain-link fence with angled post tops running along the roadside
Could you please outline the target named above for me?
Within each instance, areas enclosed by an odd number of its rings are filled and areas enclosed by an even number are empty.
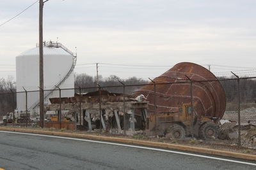
[[[254,77],[167,79],[44,90],[48,97],[41,126],[111,134],[142,131],[147,136],[228,140],[255,146]],[[39,127],[39,90],[12,90],[0,97],[4,125]]]

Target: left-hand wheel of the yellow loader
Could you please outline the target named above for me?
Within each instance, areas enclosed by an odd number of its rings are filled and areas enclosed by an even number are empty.
[[[173,124],[168,129],[166,129],[165,137],[172,139],[184,139],[186,136],[186,132],[184,127],[178,124]]]

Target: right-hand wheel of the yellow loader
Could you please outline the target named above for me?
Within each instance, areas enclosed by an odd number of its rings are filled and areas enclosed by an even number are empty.
[[[207,122],[200,127],[199,136],[202,139],[216,139],[218,138],[219,127],[214,123]]]

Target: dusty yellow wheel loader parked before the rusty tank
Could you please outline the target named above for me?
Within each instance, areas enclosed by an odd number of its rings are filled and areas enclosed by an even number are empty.
[[[156,131],[157,135],[170,139],[184,139],[186,136],[215,139],[219,133],[218,119],[193,116],[189,103],[179,106],[176,113],[149,115],[146,127],[146,131]]]

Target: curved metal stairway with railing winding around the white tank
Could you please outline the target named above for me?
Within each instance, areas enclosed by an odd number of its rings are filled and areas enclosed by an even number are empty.
[[[65,50],[66,52],[70,53],[72,56],[73,56],[73,63],[72,63],[72,66],[70,67],[68,73],[66,74],[66,76],[64,76],[62,78],[62,80],[60,80],[60,82],[58,82],[56,84],[56,86],[52,87],[52,89],[50,91],[47,91],[47,93],[44,95],[44,100],[47,99],[47,97],[49,97],[52,92],[54,90],[57,89],[57,87],[60,87],[60,85],[65,81],[67,80],[68,76],[70,76],[70,74],[72,73],[72,71],[74,71],[74,68],[76,67],[76,60],[77,60],[77,53],[72,53],[70,50],[68,50],[67,47],[63,46],[61,43],[53,43],[53,42],[47,42],[45,43],[44,42],[44,45],[45,46],[54,46],[56,48],[62,48],[63,50]],[[36,45],[37,46],[37,45]],[[38,105],[40,104],[40,99],[38,99],[34,104],[32,104],[30,107],[29,107],[29,110],[33,110],[35,109]]]

